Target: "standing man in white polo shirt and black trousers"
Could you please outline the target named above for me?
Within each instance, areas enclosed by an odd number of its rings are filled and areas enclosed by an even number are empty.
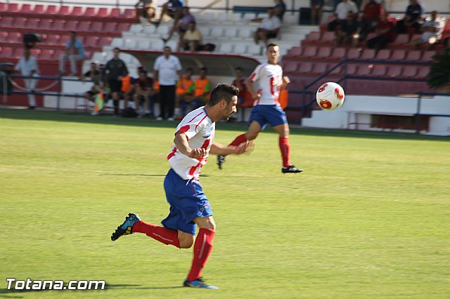
[[[160,84],[160,116],[158,121],[167,117],[168,121],[174,121],[175,106],[175,84],[176,79],[181,77],[181,63],[176,56],[171,55],[169,46],[164,47],[164,54],[155,60],[153,66],[153,79]]]

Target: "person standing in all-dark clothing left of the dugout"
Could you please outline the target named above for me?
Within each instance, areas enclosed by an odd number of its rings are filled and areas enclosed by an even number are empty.
[[[119,58],[120,48],[114,48],[114,56],[111,60],[106,62],[105,74],[110,93],[114,101],[114,115],[119,116],[119,104],[120,99],[123,96],[122,93],[122,79],[128,75],[127,65]]]

